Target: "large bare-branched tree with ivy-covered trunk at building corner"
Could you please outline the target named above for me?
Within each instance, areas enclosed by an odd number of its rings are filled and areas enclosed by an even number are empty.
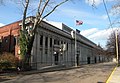
[[[31,32],[28,32],[26,29],[26,18],[27,18],[27,10],[30,5],[30,0],[22,0],[22,4],[24,6],[24,12],[23,12],[23,19],[22,19],[22,27],[20,30],[20,51],[22,56],[22,64],[29,63],[29,59],[31,56],[31,50],[35,38],[35,32],[36,28],[40,25],[42,20],[49,16],[52,12],[55,11],[56,8],[58,8],[60,5],[64,4],[69,0],[63,0],[59,2],[57,5],[52,7],[49,12],[45,13],[45,10],[48,6],[50,6],[50,3],[53,2],[53,0],[39,0],[36,16],[34,16],[34,24],[32,26]],[[24,65],[23,65],[24,67]]]

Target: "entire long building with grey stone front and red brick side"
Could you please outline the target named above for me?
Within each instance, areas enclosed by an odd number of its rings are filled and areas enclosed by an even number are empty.
[[[33,20],[32,17],[27,19]],[[13,52],[19,58],[21,21],[0,28],[0,51]],[[28,26],[29,28],[30,26]],[[76,46],[76,47],[75,47]],[[42,21],[36,30],[31,54],[32,68],[74,66],[108,61],[103,49],[63,23]]]

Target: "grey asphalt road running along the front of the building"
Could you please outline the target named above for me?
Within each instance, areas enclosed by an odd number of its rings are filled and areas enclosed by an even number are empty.
[[[84,65],[80,68],[31,75],[18,75],[0,83],[102,83],[107,80],[115,63]]]

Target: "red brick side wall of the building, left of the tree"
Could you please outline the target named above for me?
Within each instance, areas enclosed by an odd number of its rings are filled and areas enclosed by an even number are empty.
[[[17,21],[6,26],[0,27],[0,51],[11,52],[17,55],[19,46],[17,45],[20,23]]]

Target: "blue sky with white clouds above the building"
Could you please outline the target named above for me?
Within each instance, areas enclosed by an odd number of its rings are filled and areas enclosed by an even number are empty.
[[[33,0],[34,6],[29,8],[28,16],[35,15],[31,12],[37,7],[37,1]],[[57,2],[61,0],[56,0]],[[119,0],[118,0],[119,1]],[[79,29],[80,34],[90,39],[96,44],[105,47],[108,36],[111,31],[117,27],[110,28],[110,23],[105,11],[103,0],[94,0],[95,7],[92,7],[93,0],[70,0],[55,10],[46,19],[48,21],[62,22],[72,29]],[[22,19],[22,7],[18,2],[12,3],[7,0],[4,5],[0,5],[0,26]],[[111,21],[114,16],[110,13],[111,6],[115,0],[105,0]],[[83,21],[82,25],[76,26],[75,21]]]

